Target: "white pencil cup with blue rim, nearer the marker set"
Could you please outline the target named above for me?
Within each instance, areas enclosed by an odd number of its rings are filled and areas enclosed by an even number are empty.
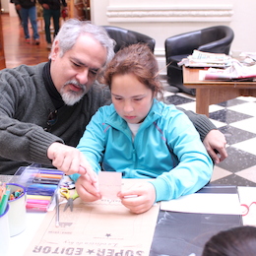
[[[15,236],[23,232],[26,228],[26,202],[27,202],[27,193],[26,188],[22,185],[15,183],[6,184],[11,189],[11,195],[20,193],[20,195],[14,195],[13,200],[9,200],[9,227],[10,227],[10,236]]]

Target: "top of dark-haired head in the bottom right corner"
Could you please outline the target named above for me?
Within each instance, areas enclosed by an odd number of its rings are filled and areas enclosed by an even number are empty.
[[[255,256],[256,227],[233,227],[214,235],[206,244],[202,256]]]

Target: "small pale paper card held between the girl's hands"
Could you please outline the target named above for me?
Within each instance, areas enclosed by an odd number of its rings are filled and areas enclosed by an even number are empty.
[[[116,171],[98,172],[98,188],[103,198],[118,199],[117,193],[121,191],[122,173]]]

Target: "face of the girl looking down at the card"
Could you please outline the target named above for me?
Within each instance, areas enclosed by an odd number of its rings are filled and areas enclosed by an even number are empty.
[[[133,74],[114,75],[111,97],[116,112],[127,123],[141,123],[152,107],[154,93]]]

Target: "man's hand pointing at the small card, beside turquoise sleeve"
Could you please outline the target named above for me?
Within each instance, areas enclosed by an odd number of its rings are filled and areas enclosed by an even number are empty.
[[[65,174],[85,174],[92,183],[96,183],[96,172],[78,149],[54,142],[48,148],[47,157],[52,160],[52,165]]]

